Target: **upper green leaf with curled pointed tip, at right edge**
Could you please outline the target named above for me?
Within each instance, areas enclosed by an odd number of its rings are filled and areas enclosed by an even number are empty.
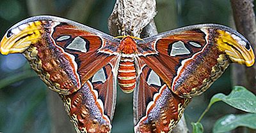
[[[256,113],[256,96],[244,87],[236,86],[229,95],[216,94],[211,98],[209,106],[223,101],[228,105],[249,113]]]

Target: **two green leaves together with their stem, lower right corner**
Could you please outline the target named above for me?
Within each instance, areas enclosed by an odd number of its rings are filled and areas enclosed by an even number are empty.
[[[236,127],[243,126],[243,127],[250,127],[251,129],[256,129],[256,96],[252,94],[252,92],[246,90],[244,87],[234,87],[232,92],[229,95],[224,94],[216,94],[211,98],[211,101],[207,108],[205,109],[204,113],[198,119],[198,122],[192,123],[193,125],[193,133],[201,133],[203,129],[202,124],[200,121],[202,120],[203,116],[209,109],[211,108],[212,104],[218,101],[223,101],[226,104],[236,108],[241,109],[248,114],[244,115],[226,115],[220,118],[213,127],[214,133],[220,132],[227,132]]]

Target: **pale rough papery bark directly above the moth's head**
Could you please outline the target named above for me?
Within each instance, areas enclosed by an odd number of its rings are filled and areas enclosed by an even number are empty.
[[[131,35],[140,37],[140,33],[156,15],[156,1],[117,0],[109,17],[109,32],[113,36]]]

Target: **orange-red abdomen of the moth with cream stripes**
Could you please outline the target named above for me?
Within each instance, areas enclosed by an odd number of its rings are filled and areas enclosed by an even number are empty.
[[[136,69],[133,57],[121,57],[118,67],[118,84],[125,93],[136,87]]]

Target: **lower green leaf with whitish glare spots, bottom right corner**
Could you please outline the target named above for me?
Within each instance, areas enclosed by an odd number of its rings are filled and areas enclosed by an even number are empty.
[[[228,132],[239,126],[256,129],[256,114],[223,116],[214,124],[212,132]]]

